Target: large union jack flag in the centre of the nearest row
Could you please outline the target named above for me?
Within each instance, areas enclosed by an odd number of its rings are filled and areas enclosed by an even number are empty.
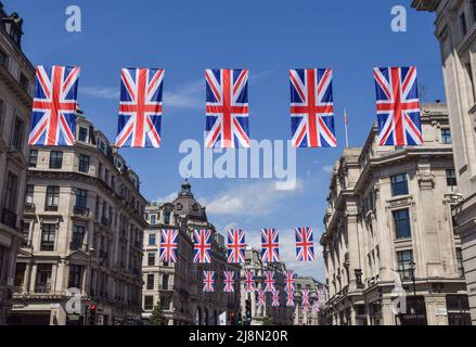
[[[248,70],[207,69],[205,79],[206,147],[249,147]]]

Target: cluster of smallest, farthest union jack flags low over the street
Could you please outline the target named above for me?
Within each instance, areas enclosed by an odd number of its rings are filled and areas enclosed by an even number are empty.
[[[257,293],[258,306],[262,307],[266,305],[266,295],[267,293],[272,294],[272,304],[271,306],[278,307],[280,305],[280,291],[275,287],[275,279],[274,271],[263,271],[263,280],[262,286],[257,288],[255,271],[245,270],[244,272],[244,290],[246,294]],[[203,291],[204,293],[215,293],[215,271],[204,271],[203,272]],[[284,292],[286,295],[286,306],[295,306],[295,292],[296,292],[296,275],[293,270],[286,270],[284,273]],[[235,272],[234,271],[223,271],[223,292],[224,293],[234,293],[234,284],[235,284]],[[300,290],[300,298],[301,298],[301,307],[309,308],[310,306],[310,296],[311,291]],[[313,303],[313,309],[319,311],[321,306],[321,300],[323,298],[324,291],[317,291],[317,300]]]

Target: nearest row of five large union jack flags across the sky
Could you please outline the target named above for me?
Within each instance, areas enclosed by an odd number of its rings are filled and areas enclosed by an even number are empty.
[[[39,66],[30,145],[74,145],[79,67]],[[117,147],[159,147],[164,69],[124,68]],[[379,145],[423,142],[416,67],[373,70]],[[247,69],[207,69],[206,147],[249,147]],[[335,147],[333,70],[290,70],[291,128],[295,147]],[[346,116],[347,125],[347,116]]]

